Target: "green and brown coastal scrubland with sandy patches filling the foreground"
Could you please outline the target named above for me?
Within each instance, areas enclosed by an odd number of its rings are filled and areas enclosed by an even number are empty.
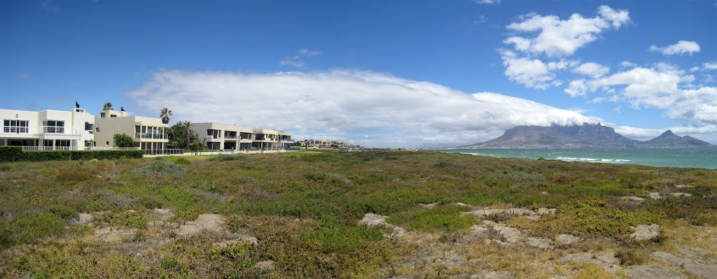
[[[1,163],[0,277],[709,278],[716,194],[716,170],[439,152]]]

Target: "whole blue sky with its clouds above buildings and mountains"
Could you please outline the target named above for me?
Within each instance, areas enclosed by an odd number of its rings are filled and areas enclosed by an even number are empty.
[[[717,143],[715,3],[1,1],[0,107],[169,107],[368,146],[581,122]]]

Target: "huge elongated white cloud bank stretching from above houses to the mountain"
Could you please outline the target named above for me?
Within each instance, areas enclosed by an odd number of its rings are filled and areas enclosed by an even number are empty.
[[[170,107],[176,119],[270,126],[287,129],[298,139],[320,134],[366,146],[460,145],[492,139],[517,125],[600,121],[503,94],[467,94],[351,70],[157,72],[128,96],[146,114]]]

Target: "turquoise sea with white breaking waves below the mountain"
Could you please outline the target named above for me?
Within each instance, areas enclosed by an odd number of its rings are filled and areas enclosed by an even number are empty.
[[[605,162],[655,167],[703,167],[717,169],[717,149],[486,149],[432,150],[460,152],[471,155],[505,158],[538,159],[573,162]]]

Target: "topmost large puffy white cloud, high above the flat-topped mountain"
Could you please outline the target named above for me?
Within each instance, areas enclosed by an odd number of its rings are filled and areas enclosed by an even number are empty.
[[[569,19],[561,20],[558,16],[541,16],[528,14],[521,17],[521,22],[508,24],[506,28],[535,36],[511,36],[505,44],[514,44],[515,49],[530,54],[546,54],[549,57],[571,56],[577,49],[595,41],[599,34],[607,29],[619,29],[622,24],[630,21],[625,10],[614,10],[609,6],[600,6],[598,15],[584,18],[580,14],[572,14]]]

